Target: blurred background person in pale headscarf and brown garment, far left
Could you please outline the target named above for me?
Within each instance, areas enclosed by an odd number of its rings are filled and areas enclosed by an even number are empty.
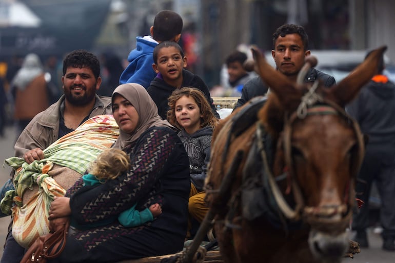
[[[44,75],[40,58],[30,53],[12,79],[11,93],[14,98],[14,119],[18,126],[17,136],[37,113],[49,106]]]

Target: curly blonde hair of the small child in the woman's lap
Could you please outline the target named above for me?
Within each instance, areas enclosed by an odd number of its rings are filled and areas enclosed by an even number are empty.
[[[89,173],[98,180],[115,179],[130,167],[129,156],[120,149],[104,150],[90,165]]]

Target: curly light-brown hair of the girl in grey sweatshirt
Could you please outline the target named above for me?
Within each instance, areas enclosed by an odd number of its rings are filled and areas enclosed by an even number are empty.
[[[171,125],[179,129],[183,128],[175,118],[175,103],[183,96],[192,97],[195,103],[198,105],[200,109],[200,113],[203,115],[203,117],[200,118],[201,128],[207,126],[211,126],[214,128],[216,126],[216,124],[218,123],[218,118],[216,118],[212,113],[210,104],[208,103],[206,96],[201,90],[192,87],[184,87],[181,89],[176,89],[170,95],[169,97],[170,110],[167,111],[167,120]]]

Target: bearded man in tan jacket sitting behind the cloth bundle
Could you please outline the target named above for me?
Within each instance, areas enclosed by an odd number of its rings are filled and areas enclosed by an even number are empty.
[[[43,159],[44,149],[74,131],[87,119],[112,114],[111,97],[96,95],[102,78],[100,62],[94,54],[86,50],[69,53],[63,60],[62,83],[64,95],[45,111],[35,115],[16,140],[14,156],[24,158],[28,164]],[[10,179],[0,190],[1,198],[7,190],[13,189],[13,175],[11,172]],[[13,238],[11,228],[12,224],[0,263],[17,263],[25,253],[25,249]]]

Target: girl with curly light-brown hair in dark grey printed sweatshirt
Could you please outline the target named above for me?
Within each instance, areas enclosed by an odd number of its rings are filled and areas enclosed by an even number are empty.
[[[210,160],[212,132],[219,120],[211,111],[204,93],[199,89],[176,89],[169,97],[169,107],[167,120],[180,129],[177,135],[189,157],[191,190],[188,201],[190,218],[187,238],[190,238],[192,219],[200,224],[208,212],[203,188]]]

